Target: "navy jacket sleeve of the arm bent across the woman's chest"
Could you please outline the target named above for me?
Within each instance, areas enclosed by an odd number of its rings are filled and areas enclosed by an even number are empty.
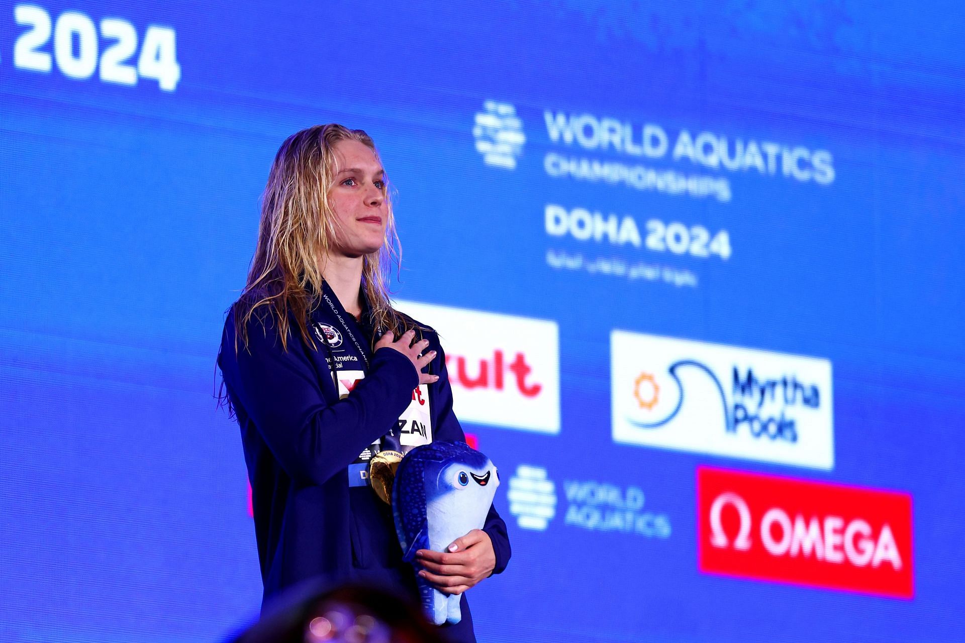
[[[375,351],[366,377],[328,404],[301,339],[289,330],[283,350],[269,315],[248,325],[235,348],[234,310],[225,322],[218,364],[232,403],[252,419],[275,459],[301,484],[320,485],[384,435],[408,405],[419,375],[391,348]],[[296,331],[295,331],[296,332]]]

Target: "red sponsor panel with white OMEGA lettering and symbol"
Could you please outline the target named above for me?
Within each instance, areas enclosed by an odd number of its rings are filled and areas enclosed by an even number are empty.
[[[914,594],[908,494],[700,467],[697,509],[704,573]]]

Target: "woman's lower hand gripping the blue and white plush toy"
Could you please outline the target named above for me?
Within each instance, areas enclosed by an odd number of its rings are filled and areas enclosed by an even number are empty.
[[[496,568],[496,552],[482,529],[456,538],[446,551],[419,549],[416,560],[423,567],[419,576],[443,594],[462,594]]]

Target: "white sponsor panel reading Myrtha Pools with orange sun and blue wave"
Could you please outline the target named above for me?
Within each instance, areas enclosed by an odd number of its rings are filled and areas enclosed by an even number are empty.
[[[831,362],[614,331],[613,439],[834,468]]]

